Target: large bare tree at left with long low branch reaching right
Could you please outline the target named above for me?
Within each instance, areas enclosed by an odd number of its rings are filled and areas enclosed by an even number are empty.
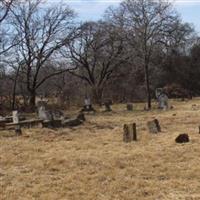
[[[42,0],[19,3],[13,11],[13,26],[20,44],[16,48],[25,63],[20,70],[30,94],[29,104],[35,106],[37,89],[50,77],[68,68],[60,67],[58,50],[72,39],[73,11],[65,4],[42,5]],[[54,67],[44,67],[54,59]],[[52,70],[53,69],[53,70]],[[41,72],[43,76],[41,76]]]

